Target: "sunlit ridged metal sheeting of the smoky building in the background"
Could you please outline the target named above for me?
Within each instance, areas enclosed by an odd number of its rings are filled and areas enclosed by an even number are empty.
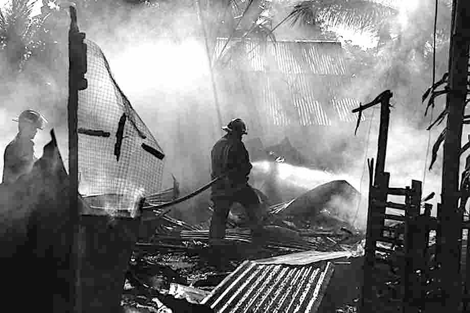
[[[220,54],[226,40],[218,39],[216,56]],[[347,72],[344,51],[340,44],[321,41],[276,41],[268,42],[267,45],[266,55],[263,55],[257,42],[246,41],[249,68],[242,70],[246,71],[248,76],[253,76],[253,80],[260,82],[257,85],[260,88],[254,88],[253,91],[261,100],[268,123],[277,126],[288,126],[292,123],[302,126],[330,126],[333,116],[328,117],[324,106],[333,106],[331,111],[336,112],[339,121],[355,122],[356,116],[351,114],[350,110],[357,106],[357,102],[341,99],[336,91],[350,81],[344,79]],[[257,77],[257,74],[262,77]],[[274,79],[276,75],[284,76],[287,81],[290,99],[281,99],[276,94],[275,85],[279,84],[279,81]],[[297,112],[295,121],[291,116],[292,112],[286,112],[283,106],[286,101],[291,102]]]

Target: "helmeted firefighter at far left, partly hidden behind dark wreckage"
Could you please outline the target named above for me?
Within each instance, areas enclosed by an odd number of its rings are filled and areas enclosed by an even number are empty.
[[[27,174],[36,161],[34,156],[34,142],[38,129],[44,129],[48,122],[41,114],[33,110],[26,110],[19,114],[18,134],[5,148],[3,183],[14,183],[21,175]]]

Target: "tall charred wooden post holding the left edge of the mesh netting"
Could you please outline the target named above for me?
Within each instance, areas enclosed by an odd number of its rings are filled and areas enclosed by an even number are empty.
[[[69,210],[70,210],[70,312],[81,312],[80,295],[78,295],[78,132],[77,109],[78,91],[85,89],[86,45],[84,33],[77,25],[77,12],[73,6],[70,10],[70,29],[68,31],[68,177],[69,177]]]

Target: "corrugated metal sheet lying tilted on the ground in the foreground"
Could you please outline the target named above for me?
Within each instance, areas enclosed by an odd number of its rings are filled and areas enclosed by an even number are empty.
[[[243,262],[202,301],[222,312],[316,312],[333,263],[287,266]]]

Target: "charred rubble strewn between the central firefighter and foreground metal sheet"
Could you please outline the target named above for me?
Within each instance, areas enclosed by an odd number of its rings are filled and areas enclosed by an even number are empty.
[[[226,249],[219,265],[211,262],[214,255],[208,246],[209,222],[189,225],[163,215],[153,236],[147,242],[136,245],[130,272],[134,275],[137,273],[140,280],[128,281],[128,286],[138,285],[128,290],[128,293],[164,293],[187,303],[200,304],[203,299],[207,299],[208,293],[214,295],[216,286],[223,284],[230,275],[233,276],[234,271],[247,260],[256,264],[292,262],[302,267],[320,264],[328,259],[334,260],[332,266],[338,267],[340,272],[348,271],[348,268],[358,272],[355,265],[358,261],[351,261],[351,258],[359,257],[362,260],[363,233],[326,208],[318,210],[314,218],[305,220],[305,210],[296,214],[297,208],[289,207],[295,200],[267,208],[263,247],[251,243],[249,229],[243,228],[243,218],[238,219],[237,223],[232,220],[223,240]],[[357,277],[353,277],[351,280],[355,281]],[[335,284],[340,283],[335,280]],[[351,298],[358,296],[354,293],[351,295]],[[146,297],[151,301],[150,296]],[[330,305],[339,307],[337,300],[331,300],[331,295],[327,299]],[[144,308],[134,306],[134,309],[143,311]]]

